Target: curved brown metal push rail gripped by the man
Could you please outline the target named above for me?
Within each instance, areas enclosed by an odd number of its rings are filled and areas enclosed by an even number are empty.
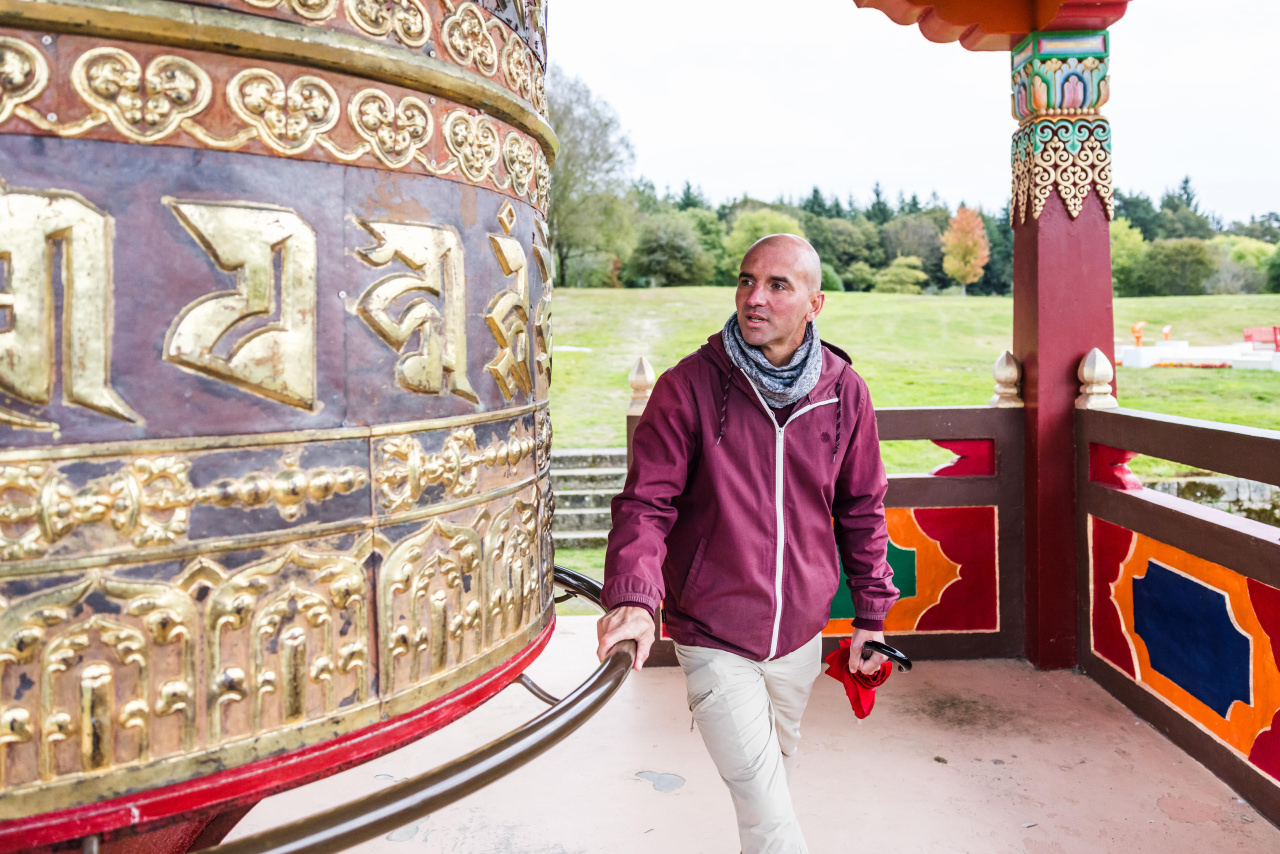
[[[600,604],[600,583],[595,579],[557,566],[556,584],[571,595]],[[634,640],[618,644],[585,682],[559,702],[522,675],[520,682],[525,688],[539,699],[554,703],[552,708],[524,726],[421,776],[319,816],[308,816],[274,830],[205,849],[205,853],[342,851],[410,822],[420,821],[429,813],[511,773],[582,726],[626,681],[635,657]]]

